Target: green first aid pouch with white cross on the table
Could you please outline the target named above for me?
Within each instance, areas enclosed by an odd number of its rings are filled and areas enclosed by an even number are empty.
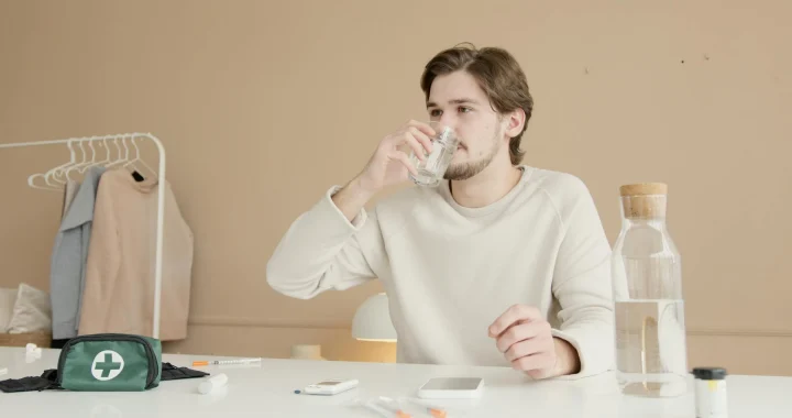
[[[161,378],[160,340],[100,333],[66,342],[54,386],[80,392],[135,392],[157,387]]]

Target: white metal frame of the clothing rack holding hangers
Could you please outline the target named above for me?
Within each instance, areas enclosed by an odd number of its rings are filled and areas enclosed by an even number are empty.
[[[37,142],[18,142],[10,144],[0,144],[0,148],[18,148],[24,146],[40,146],[40,145],[58,145],[67,144],[72,145],[74,142],[88,142],[108,140],[124,140],[130,139],[134,144],[134,139],[148,139],[153,141],[160,152],[160,169],[157,173],[157,183],[161,187],[157,188],[157,230],[156,230],[156,265],[154,273],[154,323],[153,323],[153,337],[160,338],[160,300],[162,298],[162,253],[163,253],[163,223],[165,221],[165,147],[163,146],[160,139],[152,135],[151,133],[125,133],[103,136],[84,136],[84,138],[70,138],[66,140],[53,140],[53,141],[37,141]]]

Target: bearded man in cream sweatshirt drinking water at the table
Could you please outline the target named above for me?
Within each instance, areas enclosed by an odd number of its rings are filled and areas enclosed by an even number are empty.
[[[285,295],[311,298],[380,278],[399,362],[510,365],[534,378],[581,377],[613,363],[610,248],[572,175],[520,165],[534,100],[515,58],[458,46],[421,77],[432,121],[460,145],[446,180],[364,205],[415,173],[435,134],[411,121],[364,169],[289,228],[267,265]]]

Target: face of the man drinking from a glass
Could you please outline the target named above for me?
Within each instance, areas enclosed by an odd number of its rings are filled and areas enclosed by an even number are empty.
[[[427,111],[432,121],[452,128],[460,141],[446,172],[447,179],[464,180],[481,173],[505,142],[502,118],[468,72],[437,77],[429,91]]]

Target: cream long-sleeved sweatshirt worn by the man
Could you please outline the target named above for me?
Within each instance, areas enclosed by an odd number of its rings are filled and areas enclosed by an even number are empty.
[[[267,265],[276,290],[308,299],[380,278],[399,362],[509,366],[487,327],[514,304],[537,307],[580,353],[571,378],[613,367],[610,246],[585,185],[522,167],[484,208],[448,182],[410,187],[349,222],[332,187],[289,228]]]

